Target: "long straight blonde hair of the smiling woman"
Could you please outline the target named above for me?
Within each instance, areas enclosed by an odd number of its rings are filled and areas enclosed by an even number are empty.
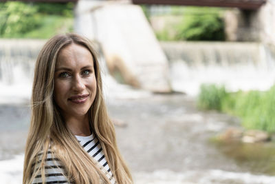
[[[109,183],[98,163],[85,152],[76,137],[69,131],[54,102],[56,59],[58,53],[72,43],[87,48],[94,58],[97,93],[88,111],[91,128],[101,143],[116,182],[133,183],[129,169],[118,151],[113,123],[109,119],[102,97],[102,81],[96,54],[87,39],[72,33],[56,35],[47,41],[36,60],[32,87],[32,116],[25,149],[23,183],[32,183],[39,171],[45,183],[45,159],[49,149],[64,165],[69,182],[97,184],[103,181],[103,183]],[[42,158],[39,170],[34,171],[33,165],[37,164],[39,154]]]

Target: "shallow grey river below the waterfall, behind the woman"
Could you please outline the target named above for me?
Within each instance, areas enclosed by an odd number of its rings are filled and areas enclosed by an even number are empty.
[[[111,118],[126,124],[116,133],[135,183],[275,183],[275,176],[263,172],[270,160],[240,162],[210,141],[227,127],[238,127],[238,119],[201,112],[184,94],[135,93],[140,96],[107,99]],[[21,183],[30,111],[24,105],[1,105],[0,112],[1,180]]]

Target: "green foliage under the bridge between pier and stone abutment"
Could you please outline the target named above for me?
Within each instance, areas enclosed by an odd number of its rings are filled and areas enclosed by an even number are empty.
[[[148,8],[142,6],[147,19],[151,15]],[[154,16],[154,15],[153,15]],[[209,7],[182,7],[171,6],[163,14],[165,26],[163,30],[157,30],[157,39],[161,41],[224,41],[223,9]],[[175,19],[167,19],[174,17]]]

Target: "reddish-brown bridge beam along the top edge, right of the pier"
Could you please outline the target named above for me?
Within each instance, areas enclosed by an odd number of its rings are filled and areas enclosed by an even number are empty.
[[[266,0],[132,0],[134,4],[235,7],[248,10],[260,8],[265,1]]]

